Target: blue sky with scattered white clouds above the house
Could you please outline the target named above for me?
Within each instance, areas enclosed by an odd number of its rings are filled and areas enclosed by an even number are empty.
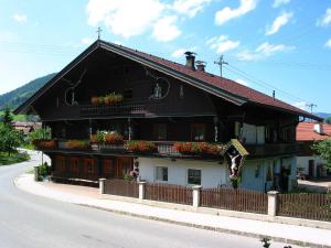
[[[331,0],[0,0],[0,94],[60,72],[97,39],[331,112]]]

